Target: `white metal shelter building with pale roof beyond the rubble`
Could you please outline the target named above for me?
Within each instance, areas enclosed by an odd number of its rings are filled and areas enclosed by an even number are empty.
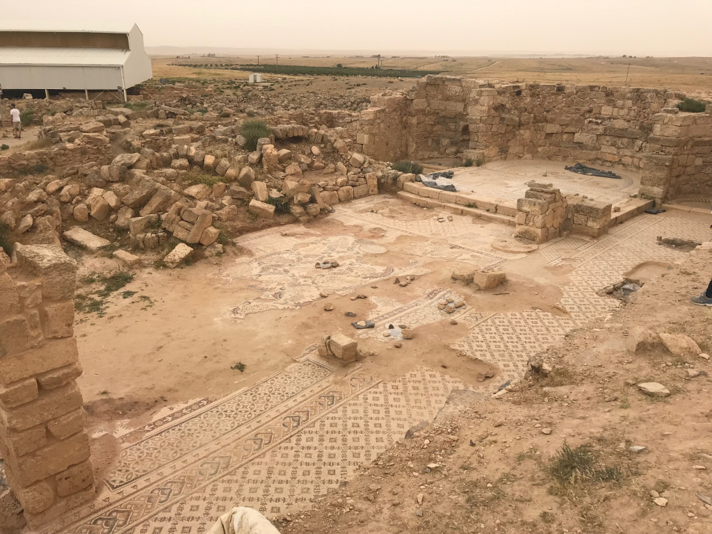
[[[0,85],[19,90],[122,90],[152,78],[138,26],[0,21]]]

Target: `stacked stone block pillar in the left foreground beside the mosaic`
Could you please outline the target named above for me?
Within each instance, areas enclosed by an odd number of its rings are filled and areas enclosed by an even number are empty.
[[[0,452],[28,524],[94,497],[73,335],[76,262],[58,246],[0,261]]]

